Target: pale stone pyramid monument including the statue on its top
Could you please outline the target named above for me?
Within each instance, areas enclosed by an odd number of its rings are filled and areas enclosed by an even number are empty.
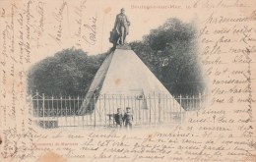
[[[110,118],[111,113],[115,113],[117,108],[124,110],[131,106],[131,102],[134,104],[133,111],[137,109],[149,117],[153,113],[155,116],[164,116],[161,109],[167,107],[169,111],[181,114],[184,109],[125,43],[129,25],[124,9],[121,9],[110,35],[114,48],[96,72],[78,114],[83,116],[95,113],[94,118],[98,118],[96,113],[100,116],[108,114]],[[129,98],[133,98],[133,101]],[[171,102],[166,102],[166,98]],[[147,102],[148,99],[151,101]],[[151,111],[153,105],[159,110]]]

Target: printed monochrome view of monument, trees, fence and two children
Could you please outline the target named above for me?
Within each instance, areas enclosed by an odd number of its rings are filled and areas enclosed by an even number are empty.
[[[131,24],[122,8],[107,51],[89,56],[71,47],[32,66],[28,92],[38,126],[173,128],[203,107],[196,24],[169,18],[127,42]]]

